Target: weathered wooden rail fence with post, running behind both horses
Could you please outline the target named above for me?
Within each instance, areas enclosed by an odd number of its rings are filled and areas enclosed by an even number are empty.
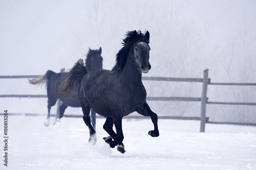
[[[256,106],[256,103],[209,102],[208,98],[207,98],[207,87],[208,87],[208,85],[256,86],[256,83],[211,83],[211,79],[208,78],[208,72],[209,72],[208,69],[204,70],[204,77],[203,78],[142,77],[142,80],[173,81],[173,82],[201,82],[202,83],[201,97],[147,97],[146,100],[154,100],[154,101],[195,101],[195,102],[200,101],[201,102],[201,116],[200,117],[159,116],[159,119],[200,120],[200,132],[205,132],[205,124],[206,123],[256,126],[256,123],[247,123],[247,122],[212,122],[212,121],[209,121],[209,117],[206,117],[206,104],[233,104],[233,105]],[[39,76],[39,75],[0,76],[0,78],[2,78],[2,79],[35,78],[37,76]],[[29,98],[34,98],[34,97],[47,97],[47,95],[0,95],[0,97],[29,97]],[[59,108],[59,106],[58,106],[58,108]],[[1,113],[1,114],[3,114],[3,113]],[[19,113],[15,113],[13,115],[19,115]],[[35,114],[29,114],[29,113],[26,114],[25,113],[25,115],[35,115]],[[36,115],[38,115],[38,114],[36,114]],[[56,116],[56,115],[51,115],[51,116]],[[82,117],[82,115],[65,115],[65,116],[66,117]],[[103,118],[103,116],[96,116],[96,118]],[[124,118],[145,119],[145,116],[126,116]]]

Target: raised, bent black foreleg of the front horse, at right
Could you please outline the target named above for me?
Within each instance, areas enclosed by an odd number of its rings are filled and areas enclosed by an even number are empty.
[[[152,137],[157,137],[159,136],[159,131],[158,131],[158,126],[157,126],[157,114],[154,113],[150,107],[148,106],[148,104],[145,102],[143,104],[143,106],[138,107],[136,110],[139,114],[143,115],[143,116],[150,116],[151,120],[154,124],[154,130],[150,130],[148,132],[148,135],[151,135]]]

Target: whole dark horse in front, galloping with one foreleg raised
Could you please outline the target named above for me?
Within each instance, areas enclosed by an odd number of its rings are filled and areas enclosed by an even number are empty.
[[[142,73],[151,69],[149,63],[149,32],[127,32],[123,47],[116,54],[116,64],[110,70],[93,70],[87,73],[80,59],[74,67],[65,74],[64,80],[57,89],[62,94],[76,91],[83,111],[84,123],[89,127],[89,142],[96,143],[95,130],[91,125],[90,109],[99,115],[107,117],[103,125],[110,135],[103,138],[111,148],[124,153],[122,117],[134,111],[144,116],[150,116],[154,130],[148,132],[152,137],[159,136],[157,114],[146,102],[146,90],[142,84]],[[99,91],[95,95],[95,90]],[[116,133],[113,131],[113,124]],[[113,140],[112,140],[113,139]]]

